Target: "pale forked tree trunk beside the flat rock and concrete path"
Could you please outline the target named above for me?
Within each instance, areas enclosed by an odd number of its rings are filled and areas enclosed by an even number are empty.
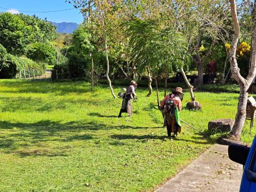
[[[253,81],[255,74],[256,74],[256,1],[254,1],[254,11],[252,12],[252,21],[253,21],[253,32],[252,32],[252,42],[251,42],[251,63],[250,63],[250,70],[246,78],[242,77],[240,74],[240,69],[238,68],[238,62],[236,58],[237,52],[237,45],[238,40],[240,37],[240,25],[239,25],[239,18],[237,14],[237,6],[235,0],[230,0],[230,8],[231,8],[231,15],[232,15],[232,22],[234,27],[234,35],[231,42],[230,52],[229,52],[229,62],[231,65],[231,73],[232,78],[236,79],[239,83],[240,87],[240,96],[238,102],[238,112],[236,114],[236,119],[233,125],[233,129],[230,132],[231,137],[236,139],[240,139],[240,135],[243,130],[245,118],[246,118],[246,105],[247,105],[247,98],[248,93],[247,90]]]

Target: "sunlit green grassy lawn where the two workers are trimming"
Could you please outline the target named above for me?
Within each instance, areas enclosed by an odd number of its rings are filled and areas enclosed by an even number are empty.
[[[91,92],[81,81],[1,80],[0,92],[0,191],[152,191],[216,138],[185,124],[177,139],[166,138],[155,92],[148,98],[140,87],[132,118],[117,118],[121,99],[105,85]],[[182,110],[181,118],[202,131],[236,114],[236,93],[196,97],[203,111]],[[250,143],[248,127],[242,139]]]

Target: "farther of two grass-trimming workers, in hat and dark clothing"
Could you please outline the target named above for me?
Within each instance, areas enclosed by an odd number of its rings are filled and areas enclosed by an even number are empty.
[[[131,81],[131,84],[126,87],[126,94],[123,98],[122,107],[120,109],[118,117],[121,117],[122,113],[128,113],[128,116],[131,117],[133,114],[133,104],[132,99],[136,96],[137,84],[134,80]]]

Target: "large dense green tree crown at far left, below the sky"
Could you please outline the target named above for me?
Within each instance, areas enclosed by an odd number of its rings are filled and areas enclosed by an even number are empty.
[[[23,55],[33,42],[49,42],[56,38],[56,28],[38,17],[0,13],[0,42],[7,52]]]

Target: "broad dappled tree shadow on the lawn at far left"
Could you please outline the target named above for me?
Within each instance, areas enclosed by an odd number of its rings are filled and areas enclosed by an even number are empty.
[[[20,148],[43,147],[42,143],[55,142],[58,147],[63,144],[56,142],[72,142],[86,141],[97,139],[97,131],[99,130],[121,130],[121,129],[147,129],[148,127],[133,127],[120,125],[106,125],[95,122],[71,121],[67,123],[53,122],[50,120],[38,121],[35,123],[8,122],[0,121],[0,130],[4,135],[0,135],[0,150],[5,153],[15,153]],[[15,132],[11,131],[15,129]],[[87,134],[84,134],[87,132]],[[115,144],[115,143],[112,143]],[[65,144],[64,144],[65,145]],[[60,151],[61,151],[60,147]],[[31,155],[47,155],[48,153],[33,153],[33,151],[22,152],[22,156]],[[48,154],[47,156],[57,156],[56,154]],[[59,155],[62,156],[62,155]]]

